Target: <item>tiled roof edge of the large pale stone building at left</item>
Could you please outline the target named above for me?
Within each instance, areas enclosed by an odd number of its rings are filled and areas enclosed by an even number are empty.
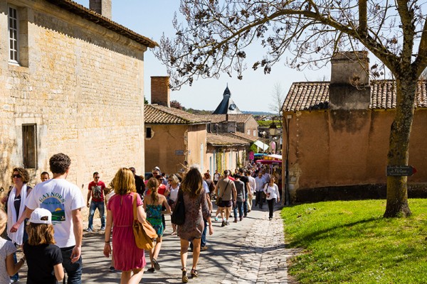
[[[143,35],[139,35],[138,33],[135,33],[135,31],[131,31],[129,28],[126,28],[125,26],[122,26],[116,23],[115,21],[111,21],[109,18],[106,18],[105,16],[102,16],[99,13],[96,13],[95,11],[88,9],[85,6],[75,3],[75,1],[71,1],[71,0],[46,0],[46,1],[56,6],[59,6],[62,9],[68,10],[71,13],[75,13],[78,16],[85,18],[88,21],[92,21],[94,23],[97,23],[100,26],[108,28],[111,31],[119,33],[120,35],[124,35],[125,37],[130,38],[131,40],[135,40],[137,43],[146,45],[149,48],[154,48],[159,45],[154,40],[150,40],[149,38],[146,38]]]

